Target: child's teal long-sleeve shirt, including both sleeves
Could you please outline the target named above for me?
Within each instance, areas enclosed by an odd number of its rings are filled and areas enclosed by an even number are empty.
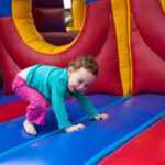
[[[38,64],[33,66],[26,77],[26,84],[45,96],[52,102],[53,111],[57,118],[59,129],[72,127],[65,108],[65,100],[74,96],[89,119],[98,114],[84,91],[70,94],[68,90],[67,68]]]

